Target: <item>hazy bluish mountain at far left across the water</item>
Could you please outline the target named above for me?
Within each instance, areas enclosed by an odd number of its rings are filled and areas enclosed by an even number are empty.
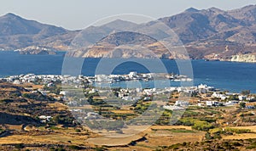
[[[17,49],[32,45],[67,48],[78,31],[25,20],[15,14],[0,17],[0,48]]]

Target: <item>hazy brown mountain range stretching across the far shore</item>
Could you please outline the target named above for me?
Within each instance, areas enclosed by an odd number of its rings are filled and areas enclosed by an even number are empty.
[[[181,14],[160,18],[158,21],[165,23],[175,31],[192,59],[229,60],[235,55],[254,55],[256,53],[256,5],[229,11],[218,8],[202,10],[188,8]],[[82,31],[82,35],[86,35],[86,37],[81,37],[81,39],[96,43],[95,46],[87,49],[85,53],[83,53],[84,50],[79,49],[71,54],[82,57],[102,57],[104,53],[119,47],[120,43],[118,42],[135,45],[138,40],[145,38],[144,47],[153,50],[154,53],[158,52],[158,57],[183,58],[183,55],[174,57],[173,54],[164,53],[163,49],[165,48],[159,42],[155,42],[152,37],[128,32],[137,29],[150,29],[156,24],[155,20],[140,25],[124,20],[114,20],[106,25],[90,26]],[[0,48],[5,50],[31,46],[67,50],[73,38],[80,32],[24,20],[15,14],[6,14],[0,17],[0,29]],[[122,30],[127,31],[123,32]],[[165,32],[157,30],[150,31],[150,35],[160,39],[166,37]],[[120,38],[123,39],[120,40]],[[134,52],[124,48],[123,51],[118,51],[118,55],[113,55],[112,52],[108,57],[129,58],[133,54]],[[143,55],[136,54],[135,57],[144,58]]]

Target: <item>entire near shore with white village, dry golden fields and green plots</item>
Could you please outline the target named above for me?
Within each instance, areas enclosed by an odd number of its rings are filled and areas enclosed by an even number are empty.
[[[187,76],[136,72],[119,76],[28,74],[2,78],[0,86],[4,99],[0,101],[3,104],[0,134],[3,137],[0,140],[3,143],[26,143],[26,148],[32,148],[29,146],[31,142],[43,139],[61,145],[54,148],[67,150],[81,143],[90,143],[91,148],[100,146],[104,150],[139,150],[149,146],[172,150],[191,145],[198,148],[198,143],[211,148],[211,142],[230,148],[225,146],[227,141],[256,137],[256,95],[248,90],[228,92],[205,84],[111,87],[112,83],[120,81],[158,80],[191,82]],[[108,87],[102,87],[101,83]],[[22,120],[24,118],[30,121]],[[149,127],[145,129],[144,126]],[[82,135],[83,139],[80,138]],[[119,142],[113,137],[131,135],[134,136]],[[49,140],[48,136],[54,138]],[[113,138],[105,140],[109,136]],[[20,137],[26,139],[17,141]],[[248,141],[233,140],[230,143],[243,144],[236,148],[254,148]]]

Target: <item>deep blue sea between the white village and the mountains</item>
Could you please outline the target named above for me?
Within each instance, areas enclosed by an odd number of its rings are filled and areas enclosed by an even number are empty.
[[[0,76],[28,73],[61,75],[64,57],[65,53],[63,52],[55,55],[21,55],[14,51],[0,51]],[[154,70],[147,69],[147,64],[154,65],[154,59],[141,60],[144,64],[139,64],[140,61],[124,61],[124,63],[116,66],[111,73],[123,75],[131,71],[137,71],[138,73],[161,72],[157,64],[155,64]],[[112,61],[117,61],[117,59],[108,60],[109,63]],[[82,74],[84,76],[94,76],[99,62],[101,62],[101,59],[84,59]],[[161,62],[165,65],[167,72],[179,74],[175,60],[162,59]],[[241,92],[241,90],[256,92],[256,64],[191,60],[191,67],[193,74],[189,76],[194,79],[194,86],[202,83],[230,92]],[[109,71],[109,69],[106,68],[105,71]],[[183,70],[183,73],[185,72]],[[104,73],[102,72],[102,74]],[[122,84],[124,83],[114,84],[114,86],[118,87]],[[148,85],[152,85],[152,81],[143,83],[145,87]],[[179,84],[178,82],[172,82],[171,85],[178,86]]]

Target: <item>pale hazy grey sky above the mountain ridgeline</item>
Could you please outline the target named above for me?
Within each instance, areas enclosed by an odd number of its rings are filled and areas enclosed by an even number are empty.
[[[241,8],[255,0],[1,0],[0,14],[74,30],[114,14],[144,14],[160,18],[194,8]]]

